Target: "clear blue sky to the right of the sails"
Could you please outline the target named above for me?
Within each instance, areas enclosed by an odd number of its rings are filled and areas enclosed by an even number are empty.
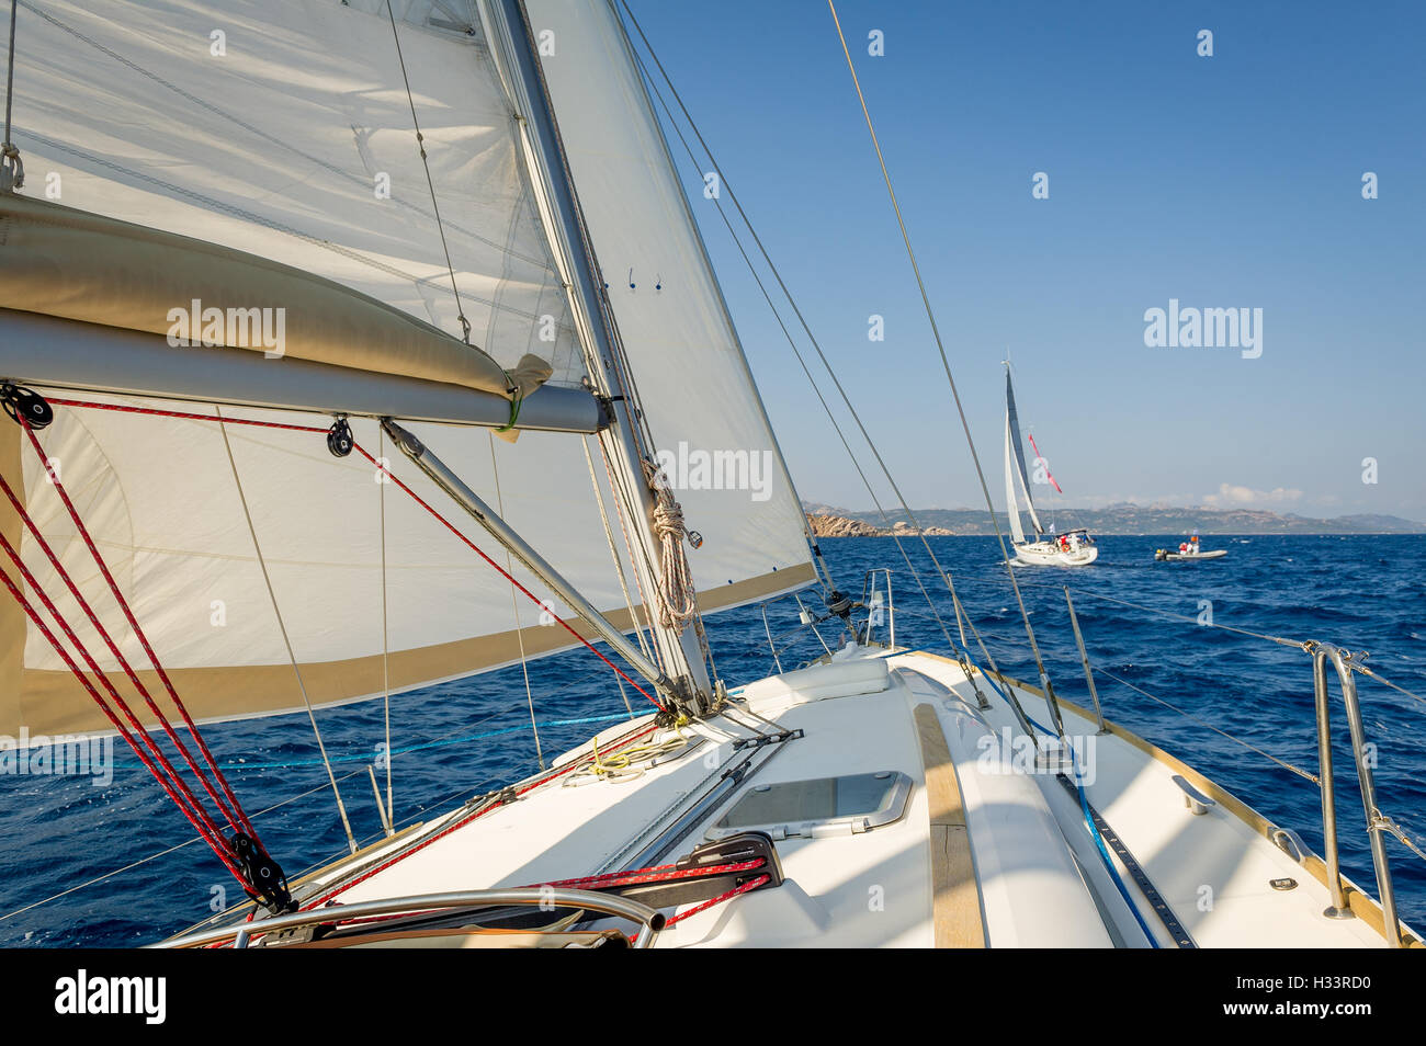
[[[980,504],[826,3],[630,4],[913,507]],[[837,10],[992,493],[1010,346],[1065,504],[1426,520],[1426,4]],[[870,507],[684,171],[803,497]],[[1145,348],[1171,298],[1263,309],[1262,356]]]

